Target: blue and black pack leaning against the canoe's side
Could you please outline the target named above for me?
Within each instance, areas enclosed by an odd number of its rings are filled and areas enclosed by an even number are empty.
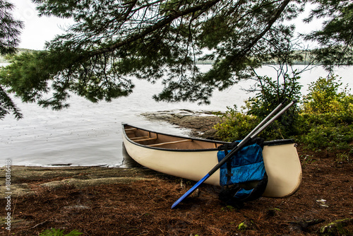
[[[228,151],[238,143],[239,141],[236,141],[220,146],[217,153],[218,161],[225,158]],[[268,182],[262,151],[263,139],[254,138],[248,146],[235,153],[220,167],[220,185],[225,187],[220,192],[221,201],[241,208],[244,202],[261,197]]]

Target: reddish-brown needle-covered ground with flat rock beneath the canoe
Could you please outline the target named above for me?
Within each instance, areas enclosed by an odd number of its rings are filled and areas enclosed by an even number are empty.
[[[11,186],[25,190],[11,196],[11,231],[4,218],[6,194],[1,197],[0,235],[39,235],[50,228],[83,235],[353,235],[353,164],[300,145],[298,151],[299,190],[241,209],[222,205],[220,189],[203,184],[172,210],[194,182],[181,184],[143,167],[13,167]]]

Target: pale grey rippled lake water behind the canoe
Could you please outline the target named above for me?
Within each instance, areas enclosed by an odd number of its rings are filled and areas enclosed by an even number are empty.
[[[203,70],[209,65],[201,66]],[[297,66],[302,69],[303,66]],[[276,76],[269,66],[258,69],[258,74]],[[353,67],[337,69],[342,83],[353,88]],[[301,75],[306,94],[308,84],[327,72],[321,67],[306,71]],[[73,95],[66,110],[52,111],[35,104],[23,104],[15,99],[24,118],[17,121],[11,115],[0,120],[0,166],[10,158],[13,165],[108,165],[122,166],[124,150],[121,138],[121,122],[169,134],[188,135],[185,129],[167,124],[151,122],[140,114],[163,110],[227,110],[227,106],[244,105],[251,94],[241,88],[249,88],[252,81],[244,81],[226,91],[216,91],[210,105],[196,103],[155,102],[152,95],[158,93],[162,85],[151,85],[146,81],[134,81],[136,88],[127,98],[113,102],[91,103]]]

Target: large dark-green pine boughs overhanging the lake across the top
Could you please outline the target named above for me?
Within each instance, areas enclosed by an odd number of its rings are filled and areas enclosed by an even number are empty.
[[[34,0],[43,16],[72,18],[47,50],[11,58],[0,83],[25,102],[67,107],[71,93],[97,102],[130,94],[136,76],[164,89],[157,101],[208,103],[252,73],[270,47],[292,37],[301,6],[281,1]],[[201,58],[202,50],[210,54]],[[196,62],[213,60],[201,73]]]

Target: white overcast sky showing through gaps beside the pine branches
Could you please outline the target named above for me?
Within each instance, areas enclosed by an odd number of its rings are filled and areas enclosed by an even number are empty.
[[[67,28],[71,20],[61,19],[55,17],[39,17],[38,12],[35,9],[35,4],[30,0],[10,0],[15,5],[13,16],[17,20],[22,20],[25,24],[25,28],[20,35],[20,48],[26,49],[44,49],[46,41],[50,41],[55,35],[61,35],[64,33],[62,28]],[[308,14],[309,11],[304,13]],[[318,21],[306,24],[302,23],[301,20],[295,20],[297,30],[301,33],[309,33],[320,25]]]

